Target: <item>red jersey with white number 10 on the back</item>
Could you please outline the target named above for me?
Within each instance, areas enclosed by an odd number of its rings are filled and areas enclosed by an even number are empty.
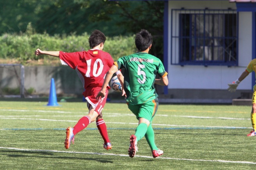
[[[84,89],[101,87],[107,71],[114,63],[109,53],[99,49],[74,53],[60,51],[59,56],[62,65],[68,65],[76,70]]]

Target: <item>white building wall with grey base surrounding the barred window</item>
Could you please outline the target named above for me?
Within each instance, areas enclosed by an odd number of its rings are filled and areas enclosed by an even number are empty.
[[[235,3],[229,3],[229,1],[169,1],[169,30],[171,30],[171,10],[181,9],[182,7],[185,9],[236,9]],[[188,98],[193,98],[193,96],[195,98],[239,98],[241,93],[251,91],[252,79],[251,76],[248,76],[240,83],[238,91],[235,94],[227,93],[228,83],[238,79],[252,59],[251,12],[240,12],[238,23],[239,56],[237,67],[205,67],[202,65],[185,65],[182,67],[180,65],[171,65],[171,48],[177,48],[177,44],[173,44],[173,46],[168,49],[168,94],[170,96],[174,98],[187,98],[188,96]],[[174,28],[175,27],[177,27],[177,25],[174,25]],[[178,31],[179,29],[176,28],[173,30]],[[168,37],[168,43],[171,44],[170,32]],[[202,93],[200,93],[200,90]],[[183,93],[181,93],[181,91]],[[210,91],[215,91],[215,93]]]

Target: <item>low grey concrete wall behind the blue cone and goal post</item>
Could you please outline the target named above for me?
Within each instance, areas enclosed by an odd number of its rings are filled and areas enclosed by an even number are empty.
[[[82,82],[78,78],[75,70],[68,66],[26,66],[25,90],[34,88],[34,94],[48,95],[52,78],[55,81],[56,93],[59,95],[81,94],[84,91]],[[0,89],[20,87],[18,79],[20,79],[20,67],[16,67],[15,69],[13,67],[0,67]]]

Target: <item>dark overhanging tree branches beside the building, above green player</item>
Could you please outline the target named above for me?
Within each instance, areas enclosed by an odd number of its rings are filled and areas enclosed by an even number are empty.
[[[164,1],[102,0],[101,3],[104,8],[91,14],[91,21],[115,20],[116,26],[126,33],[136,33],[142,28],[148,30],[153,35],[153,48],[149,53],[163,59]]]

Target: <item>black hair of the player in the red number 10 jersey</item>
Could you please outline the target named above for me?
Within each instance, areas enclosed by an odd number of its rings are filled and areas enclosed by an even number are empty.
[[[98,46],[101,42],[103,42],[103,44],[104,44],[106,40],[107,40],[107,38],[103,32],[101,32],[99,30],[94,30],[91,33],[91,36],[89,37],[89,44],[90,44],[91,48],[94,48],[94,47]]]

